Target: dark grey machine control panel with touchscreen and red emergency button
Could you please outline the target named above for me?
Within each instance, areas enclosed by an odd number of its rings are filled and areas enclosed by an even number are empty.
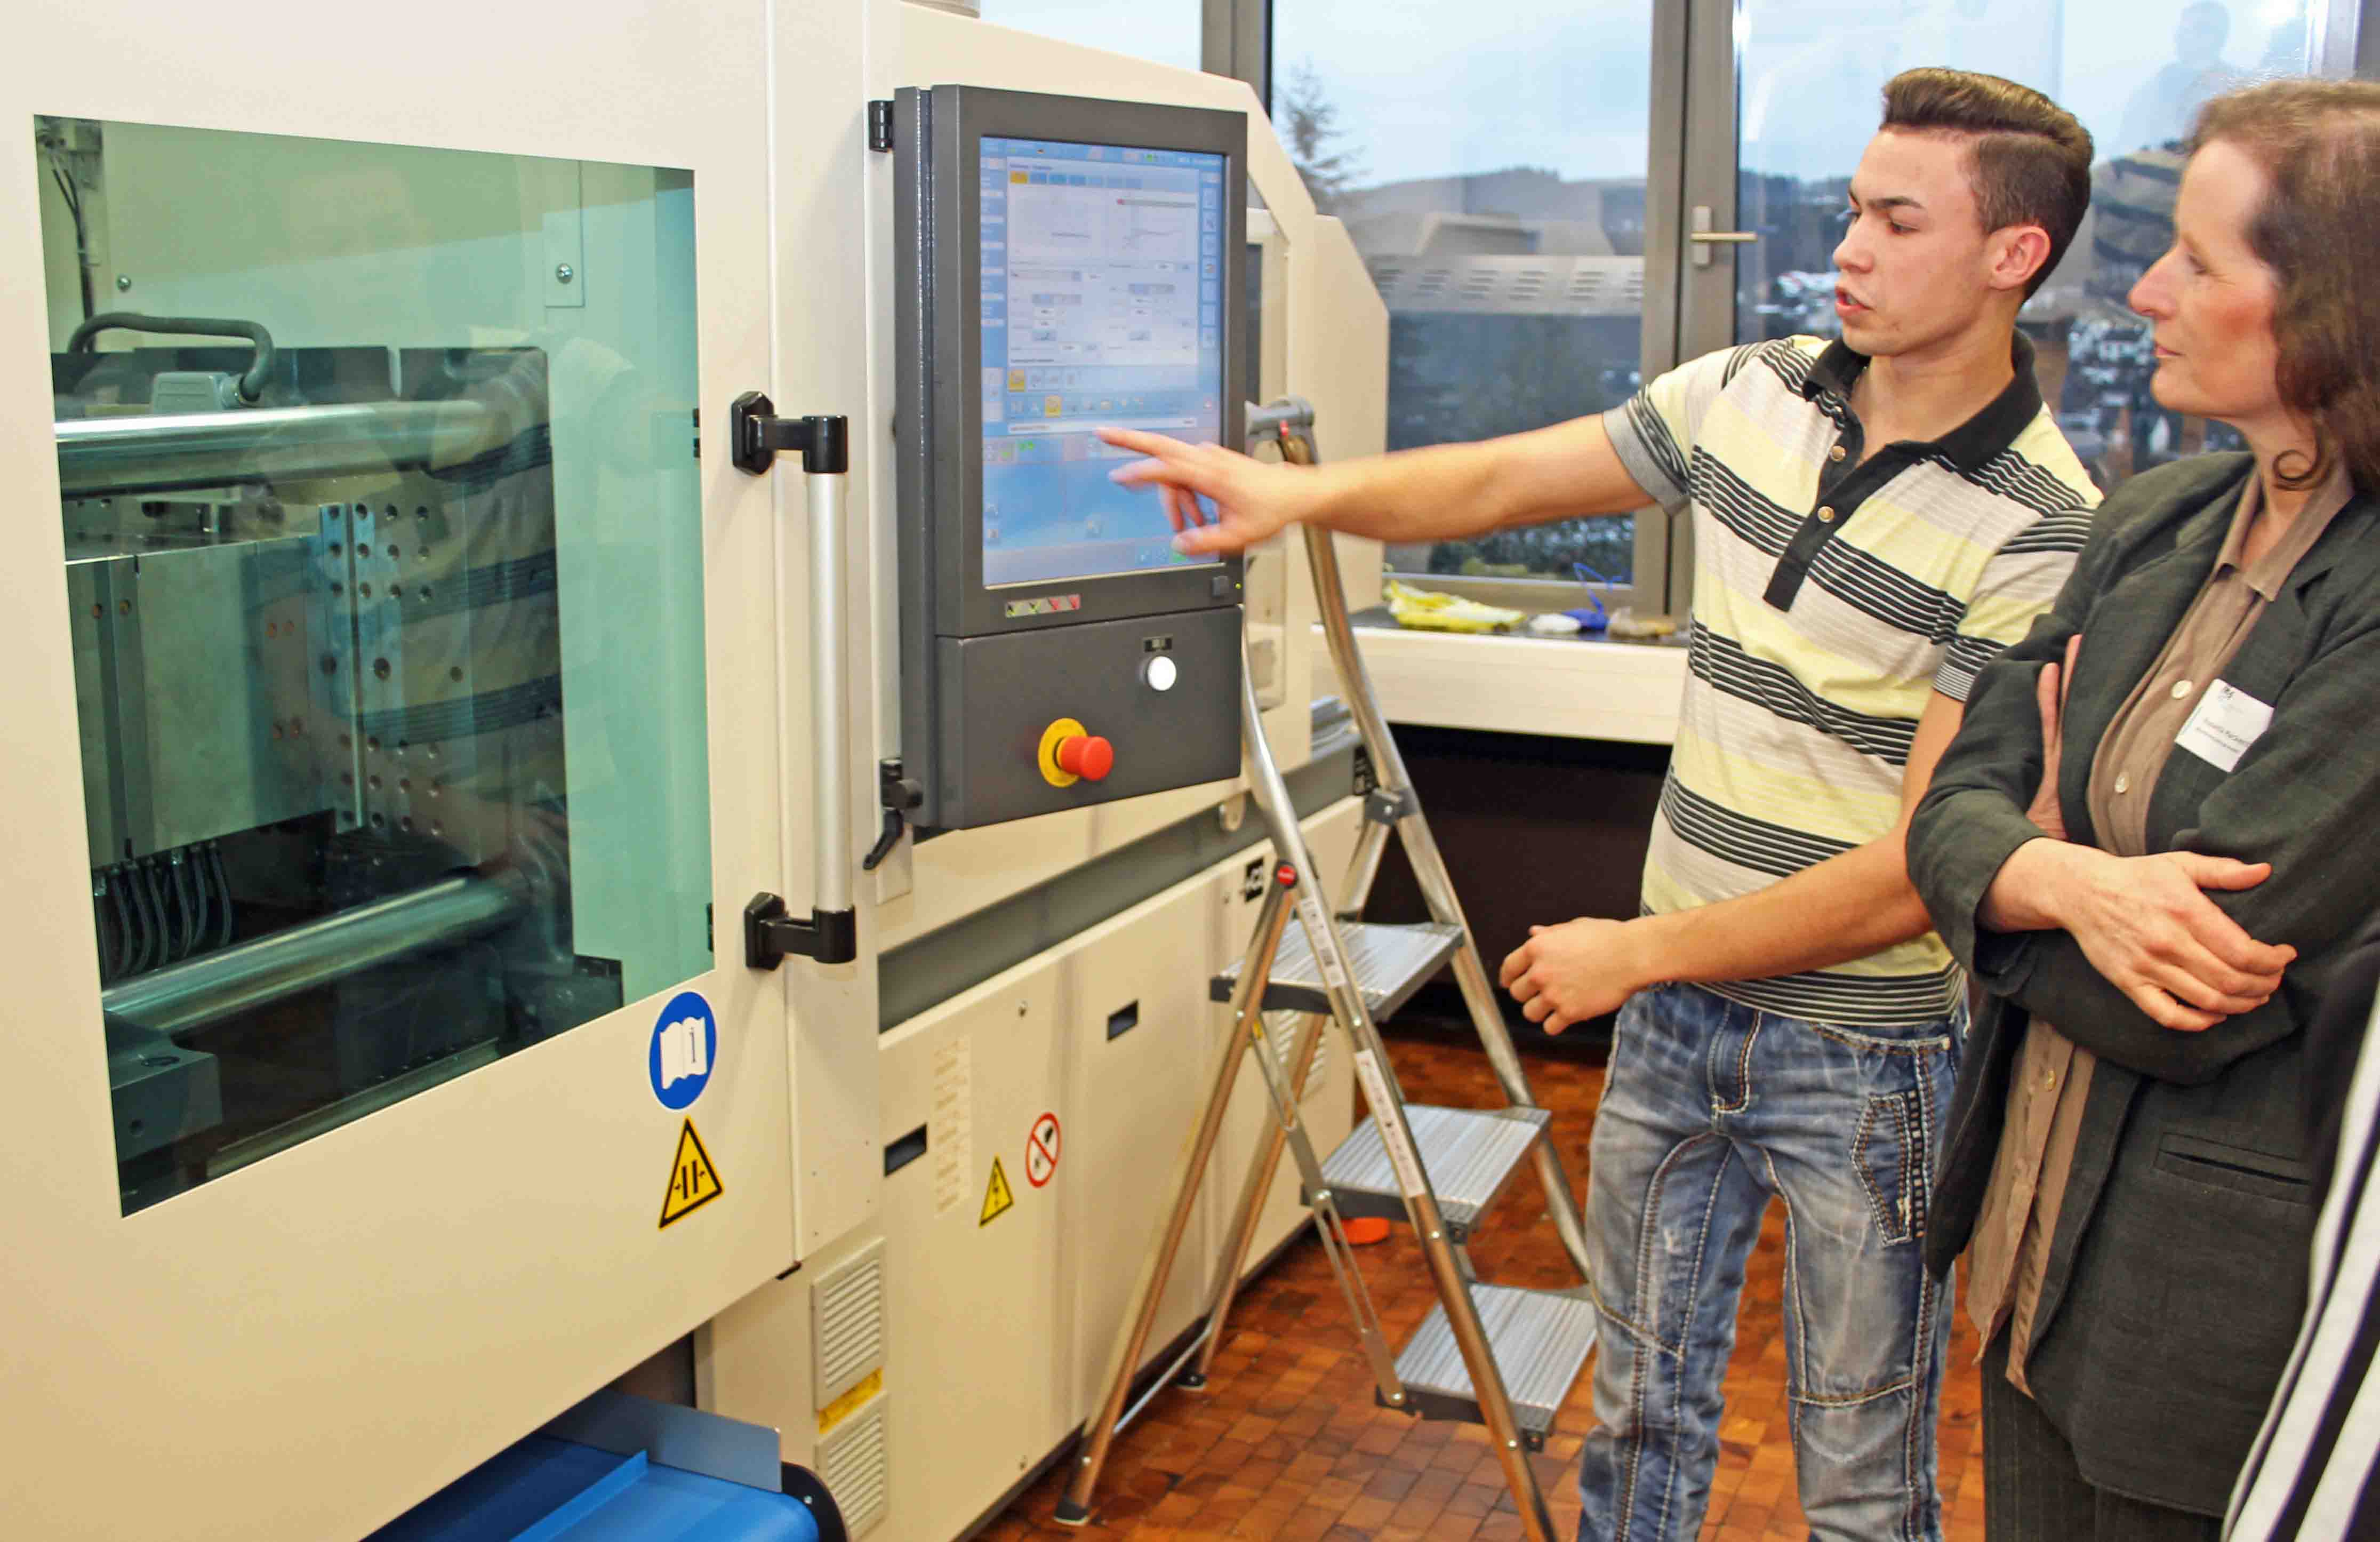
[[[1097,428],[1240,440],[1247,119],[935,86],[892,140],[914,823],[1238,773],[1240,562],[1176,552]]]

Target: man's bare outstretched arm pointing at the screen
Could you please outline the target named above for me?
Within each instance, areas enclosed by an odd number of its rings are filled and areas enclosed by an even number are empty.
[[[1147,457],[1111,476],[1157,488],[1178,531],[1173,545],[1185,552],[1238,552],[1290,524],[1392,543],[1464,540],[1654,502],[1621,464],[1599,416],[1323,466],[1266,464],[1130,428],[1100,428],[1100,438]]]

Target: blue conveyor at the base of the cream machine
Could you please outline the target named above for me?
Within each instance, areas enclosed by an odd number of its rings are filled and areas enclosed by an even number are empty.
[[[531,1435],[369,1542],[821,1542],[821,1535],[840,1537],[840,1516],[821,1528],[812,1504],[793,1494],[662,1466],[645,1452]]]

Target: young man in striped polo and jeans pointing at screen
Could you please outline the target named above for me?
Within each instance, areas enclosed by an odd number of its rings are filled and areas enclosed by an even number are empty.
[[[1599,419],[1314,471],[1109,433],[1152,457],[1116,476],[1154,483],[1192,552],[1290,521],[1442,540],[1692,509],[1645,916],[1533,928],[1504,959],[1549,1030],[1626,1002],[1587,1173],[1604,1337],[1580,1537],[1699,1532],[1771,1197],[1811,1535],[1940,1537],[1949,1290],[1923,1235],[1964,985],[1902,835],[1975,671],[2056,595],[2097,502],[2016,336],[2087,200],[2071,114],[1916,69],[1852,178],[1842,343],[1735,347]]]

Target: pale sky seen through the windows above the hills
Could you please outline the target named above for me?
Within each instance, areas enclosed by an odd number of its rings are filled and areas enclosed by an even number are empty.
[[[2185,0],[1737,0],[1747,164],[1842,176],[1875,128],[1875,88],[1956,62],[2037,86],[2118,145],[2125,107],[2173,59]],[[2301,0],[2230,0],[2228,64],[2263,59]],[[1485,17],[1485,21],[1483,21]],[[983,0],[983,19],[1197,67],[1200,2]],[[1273,0],[1273,81],[1311,62],[1340,109],[1357,186],[1549,167],[1642,176],[1652,0]]]

